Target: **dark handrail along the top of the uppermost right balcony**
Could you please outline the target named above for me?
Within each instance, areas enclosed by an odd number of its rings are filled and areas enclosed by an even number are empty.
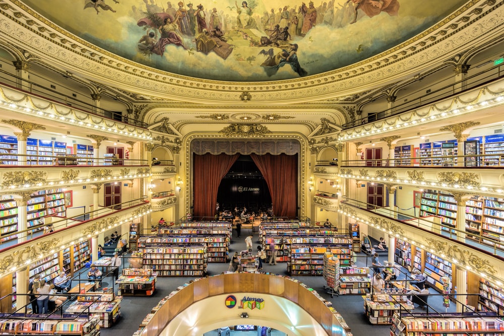
[[[486,58],[488,59],[488,58]],[[487,63],[488,61],[485,60],[483,64]],[[480,64],[480,65],[483,65]],[[478,65],[475,65],[474,68],[478,68]],[[482,77],[481,75],[483,74],[489,74],[488,76]],[[367,116],[362,117],[360,119],[356,119],[350,122],[347,122],[342,125],[343,129],[349,129],[352,127],[360,126],[369,122],[374,122],[377,120],[385,119],[397,114],[404,113],[408,110],[411,109],[416,109],[422,106],[425,106],[427,104],[431,104],[432,102],[438,100],[439,98],[447,98],[451,95],[455,94],[461,94],[464,93],[468,90],[472,90],[476,87],[486,85],[488,83],[491,83],[493,81],[499,80],[504,78],[504,75],[502,75],[501,72],[501,66],[497,67],[491,67],[489,69],[485,69],[481,72],[478,72],[476,74],[472,74],[470,76],[465,77],[462,80],[456,81],[456,82],[451,82],[453,81],[453,77],[450,78],[443,78],[440,81],[432,83],[430,86],[431,87],[436,87],[436,85],[444,84],[447,81],[450,81],[449,84],[440,87],[439,89],[432,90],[426,94],[422,94],[421,96],[409,100],[407,102],[395,105],[393,108],[387,108],[383,111],[378,111],[374,113],[368,113]],[[419,78],[421,80],[421,78]],[[463,90],[457,90],[457,88],[464,87]],[[425,90],[425,88],[420,89],[421,91]],[[413,97],[415,94],[421,92],[421,91],[416,91],[408,94],[408,97]]]

